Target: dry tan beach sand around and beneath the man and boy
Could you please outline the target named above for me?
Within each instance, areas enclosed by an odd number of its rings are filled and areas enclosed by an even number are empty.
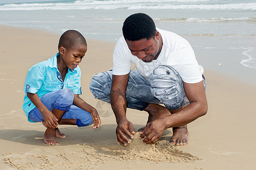
[[[169,145],[171,129],[156,145],[142,144],[137,135],[128,147],[119,145],[110,104],[89,91],[91,77],[112,67],[115,43],[98,40],[87,40],[79,66],[81,97],[98,110],[102,125],[95,130],[60,125],[67,137],[58,139],[59,146],[45,145],[44,126],[28,122],[22,110],[23,86],[32,65],[57,53],[60,35],[5,26],[0,35],[1,169],[255,169],[256,87],[208,70],[208,113],[188,125],[187,146]],[[135,130],[147,121],[145,112],[132,109],[127,117]]]

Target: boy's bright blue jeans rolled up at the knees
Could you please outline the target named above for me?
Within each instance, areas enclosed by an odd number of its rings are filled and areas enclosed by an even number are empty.
[[[73,105],[74,94],[69,88],[49,92],[40,98],[41,102],[47,107],[49,111],[58,109],[66,111],[62,116],[64,119],[74,119],[78,127],[89,126],[93,124],[91,113]],[[39,109],[34,108],[28,113],[28,118],[34,122],[42,122],[44,120],[42,113]]]

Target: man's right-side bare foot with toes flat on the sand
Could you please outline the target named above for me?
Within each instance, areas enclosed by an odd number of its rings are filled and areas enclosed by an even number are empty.
[[[173,128],[173,137],[170,139],[171,145],[182,146],[188,143],[187,125]]]

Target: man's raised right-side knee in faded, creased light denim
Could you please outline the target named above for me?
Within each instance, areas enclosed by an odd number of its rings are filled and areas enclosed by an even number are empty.
[[[160,65],[150,75],[151,92],[169,109],[178,109],[184,100],[181,76],[170,66]]]

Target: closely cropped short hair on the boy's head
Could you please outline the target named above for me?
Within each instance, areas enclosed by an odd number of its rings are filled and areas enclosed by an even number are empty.
[[[61,35],[60,41],[58,41],[58,49],[60,49],[61,46],[70,49],[78,44],[87,46],[85,37],[83,37],[80,32],[70,29]]]

